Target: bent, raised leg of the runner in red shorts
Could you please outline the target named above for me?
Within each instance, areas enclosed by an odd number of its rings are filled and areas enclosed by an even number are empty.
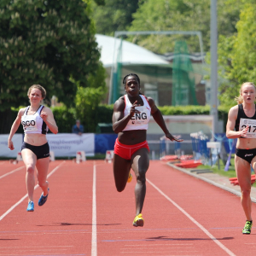
[[[130,170],[131,160],[126,160],[118,154],[113,154],[113,177],[115,187],[119,192],[125,189]]]

